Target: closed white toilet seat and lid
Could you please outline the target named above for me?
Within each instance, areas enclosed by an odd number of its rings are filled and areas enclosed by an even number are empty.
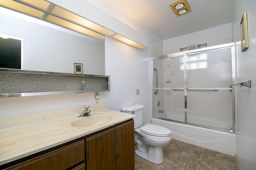
[[[167,129],[166,127],[152,124],[146,124],[140,127],[140,132],[158,137],[167,137],[170,136],[172,133],[172,131],[170,131],[170,129]]]

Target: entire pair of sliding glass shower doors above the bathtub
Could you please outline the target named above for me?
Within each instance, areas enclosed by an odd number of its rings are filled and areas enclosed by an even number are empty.
[[[233,46],[223,46],[153,59],[154,118],[232,131]]]

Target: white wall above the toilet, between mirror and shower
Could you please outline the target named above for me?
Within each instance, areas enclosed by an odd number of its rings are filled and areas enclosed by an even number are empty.
[[[110,92],[105,92],[110,109],[144,105],[144,121],[151,119],[150,57],[148,49],[138,50],[106,37],[106,75],[110,75]],[[136,89],[140,95],[136,95]]]

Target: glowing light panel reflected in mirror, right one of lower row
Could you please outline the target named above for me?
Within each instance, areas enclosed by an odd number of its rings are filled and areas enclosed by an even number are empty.
[[[84,35],[89,35],[91,37],[94,37],[96,39],[104,39],[104,35],[101,35],[99,33],[96,33],[95,31],[92,31],[90,29],[87,29],[87,28],[84,28],[84,27],[81,27],[80,25],[76,25],[74,23],[71,23],[69,21],[66,21],[66,20],[63,20],[61,18],[58,18],[56,16],[53,16],[53,15],[48,15],[48,17],[46,18],[47,21],[50,21],[52,23],[55,23],[57,25],[60,25],[62,27],[66,27],[68,29],[71,29],[73,31],[76,31],[76,32],[79,32],[79,33],[82,33]]]

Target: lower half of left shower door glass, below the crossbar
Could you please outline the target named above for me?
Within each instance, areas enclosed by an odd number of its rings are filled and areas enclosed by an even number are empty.
[[[163,98],[154,97],[154,116],[184,122],[184,90],[160,89],[158,92]]]

